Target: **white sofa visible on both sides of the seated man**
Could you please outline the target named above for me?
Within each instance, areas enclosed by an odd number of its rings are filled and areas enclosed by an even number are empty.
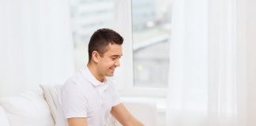
[[[55,115],[45,91],[25,91],[21,95],[0,98],[0,126],[55,126]],[[127,109],[146,126],[156,126],[156,106],[145,102],[124,102]],[[119,125],[111,120],[110,126]]]

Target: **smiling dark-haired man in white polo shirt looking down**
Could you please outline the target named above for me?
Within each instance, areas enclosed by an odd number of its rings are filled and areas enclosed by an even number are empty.
[[[141,126],[120,102],[113,76],[120,66],[122,36],[103,28],[88,43],[88,65],[63,85],[57,126],[105,126],[110,113],[124,126]]]

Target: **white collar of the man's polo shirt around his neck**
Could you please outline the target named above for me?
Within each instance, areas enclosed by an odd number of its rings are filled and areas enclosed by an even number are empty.
[[[104,82],[100,82],[95,78],[95,76],[92,75],[92,72],[88,69],[86,66],[85,68],[81,69],[82,76],[85,76],[85,78],[92,84],[93,87],[100,87],[100,86],[107,86],[107,78],[104,80]]]

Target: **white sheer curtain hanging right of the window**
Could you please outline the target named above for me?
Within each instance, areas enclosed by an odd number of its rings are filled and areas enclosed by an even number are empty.
[[[255,1],[174,0],[167,125],[252,126]]]

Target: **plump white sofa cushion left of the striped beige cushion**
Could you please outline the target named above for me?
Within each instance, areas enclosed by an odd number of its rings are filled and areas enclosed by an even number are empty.
[[[49,106],[42,91],[26,91],[21,95],[0,99],[11,126],[54,126]]]

